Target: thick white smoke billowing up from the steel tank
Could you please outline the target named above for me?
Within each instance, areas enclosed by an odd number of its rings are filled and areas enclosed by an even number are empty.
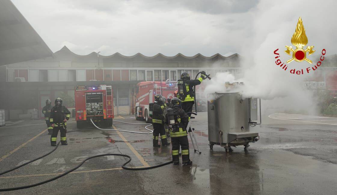
[[[335,7],[336,1],[260,1],[250,11],[250,18],[247,18],[251,23],[251,31],[247,33],[247,37],[235,39],[242,46],[239,53],[243,56],[244,75],[239,82],[245,83],[242,90],[244,96],[266,100],[263,101],[263,108],[267,112],[305,110],[308,114],[313,114],[316,108],[312,94],[302,86],[303,80],[314,72],[296,75],[289,71],[294,68],[303,68],[305,71],[317,61],[308,56],[313,64],[293,61],[287,64],[287,70],[284,71],[276,65],[277,55],[274,51],[278,49],[277,53],[284,63],[291,58],[284,50],[286,45],[291,45],[290,39],[295,32],[298,18],[301,17],[308,37],[307,46],[314,46],[315,55],[319,55],[324,48],[327,53],[336,52],[334,44],[337,43],[337,38],[331,33],[337,29]],[[298,12],[299,8],[303,10],[301,13]],[[331,54],[334,53],[329,55]],[[207,86],[206,92],[224,91],[226,79],[229,82],[235,81],[231,75],[222,74],[213,79],[214,82],[210,82],[213,86]]]

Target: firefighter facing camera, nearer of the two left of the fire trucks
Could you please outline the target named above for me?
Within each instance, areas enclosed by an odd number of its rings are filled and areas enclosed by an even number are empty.
[[[53,127],[53,133],[50,138],[50,144],[52,146],[56,146],[57,134],[61,134],[61,144],[68,145],[66,138],[66,125],[67,120],[70,118],[70,111],[62,106],[62,99],[57,97],[55,100],[55,106],[52,108],[50,112],[50,124]]]

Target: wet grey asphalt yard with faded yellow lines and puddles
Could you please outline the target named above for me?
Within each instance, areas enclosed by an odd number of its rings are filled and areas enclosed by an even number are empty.
[[[248,151],[238,146],[226,153],[217,145],[210,150],[207,113],[198,113],[193,125],[202,154],[190,144],[193,165],[130,171],[120,168],[125,157],[99,157],[47,184],[0,194],[337,194],[337,118],[284,118],[265,115],[261,126],[251,128],[259,132],[258,142]],[[116,120],[144,123],[133,116]],[[146,132],[144,125],[115,122],[114,128]],[[52,150],[47,132],[37,136],[44,129],[43,120],[0,128],[0,172]],[[75,121],[69,121],[68,131],[73,130]],[[151,139],[152,135],[93,127],[68,133],[67,146],[1,175],[0,188],[41,182],[99,154],[130,155],[128,166],[134,167],[170,161],[171,146],[154,148]]]

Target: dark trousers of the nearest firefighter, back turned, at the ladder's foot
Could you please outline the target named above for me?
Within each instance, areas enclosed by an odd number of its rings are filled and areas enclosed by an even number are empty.
[[[179,149],[181,146],[181,159],[184,162],[189,162],[189,147],[187,135],[181,137],[171,137],[172,143],[172,160],[174,163],[179,162]]]

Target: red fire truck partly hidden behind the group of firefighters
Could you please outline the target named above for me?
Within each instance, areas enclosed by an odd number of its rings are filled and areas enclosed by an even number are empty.
[[[154,95],[161,94],[166,99],[174,97],[174,91],[178,90],[177,82],[161,82],[161,81],[144,81],[137,84],[135,88],[136,106],[135,117],[136,120],[144,120],[151,122],[149,117],[149,103],[154,101]]]

